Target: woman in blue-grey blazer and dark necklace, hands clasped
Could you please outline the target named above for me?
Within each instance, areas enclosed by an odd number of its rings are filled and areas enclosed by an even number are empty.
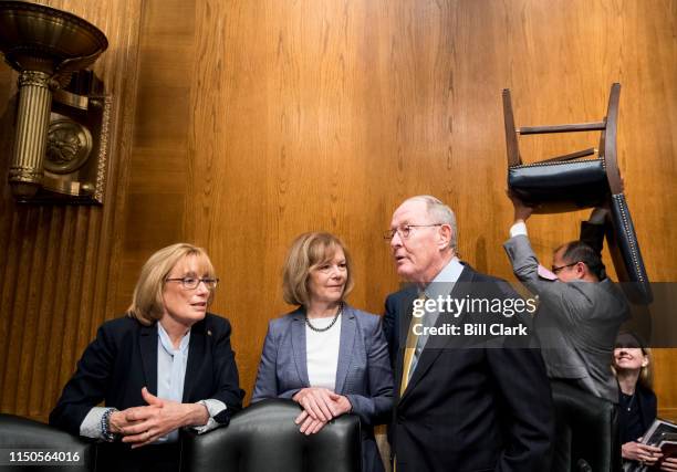
[[[252,402],[293,399],[303,409],[296,423],[305,434],[332,418],[357,415],[362,470],[379,472],[373,427],[388,420],[393,373],[381,318],[345,303],[352,287],[351,258],[336,237],[311,232],[294,240],[283,293],[299,307],[268,326]]]

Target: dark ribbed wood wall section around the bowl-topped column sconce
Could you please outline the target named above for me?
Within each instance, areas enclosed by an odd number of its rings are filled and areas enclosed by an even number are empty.
[[[0,411],[45,420],[115,295],[142,4],[41,3],[71,11],[106,33],[111,45],[94,70],[113,96],[114,116],[103,208],[15,204],[6,177],[14,109],[4,99],[15,92],[15,74],[2,67]]]

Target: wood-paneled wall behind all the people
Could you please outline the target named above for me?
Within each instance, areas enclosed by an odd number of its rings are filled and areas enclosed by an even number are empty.
[[[61,3],[85,14],[79,2]],[[142,11],[117,17],[123,4]],[[2,187],[0,247],[10,252],[0,265],[8,268],[0,334],[13,339],[31,326],[37,334],[4,347],[3,411],[49,412],[95,326],[126,308],[145,259],[171,242],[211,254],[223,281],[213,311],[233,324],[248,392],[268,321],[290,310],[280,271],[301,232],[329,230],[346,241],[356,266],[351,302],[379,313],[397,287],[381,234],[404,198],[433,193],[457,212],[462,258],[512,279],[501,248],[511,220],[504,87],[518,124],[529,125],[596,120],[611,84],[623,84],[618,148],[629,206],[650,276],[677,280],[677,1],[106,0],[90,8],[95,23],[117,18],[129,27],[117,40],[104,29],[112,52],[128,44],[131,57],[139,46],[138,63],[111,71],[136,93],[124,95],[134,106],[121,135],[129,147],[103,210],[23,209]],[[531,138],[522,154],[539,160],[586,138]],[[539,254],[548,259],[575,238],[584,217],[534,217]],[[83,249],[69,261],[72,248]],[[33,264],[61,271],[40,273],[67,280],[69,296],[31,282]],[[53,340],[42,350],[31,345],[44,338]],[[58,375],[40,374],[43,358]],[[677,418],[677,354],[658,350],[655,360],[662,412]],[[28,411],[33,402],[18,399],[38,386],[40,407]]]

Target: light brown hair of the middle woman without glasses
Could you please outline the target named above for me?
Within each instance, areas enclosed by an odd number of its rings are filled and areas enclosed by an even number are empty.
[[[292,243],[284,261],[282,294],[290,305],[306,306],[310,302],[308,280],[313,269],[331,261],[336,250],[343,250],[347,279],[341,296],[344,300],[353,290],[353,265],[345,244],[333,234],[325,232],[303,233]]]

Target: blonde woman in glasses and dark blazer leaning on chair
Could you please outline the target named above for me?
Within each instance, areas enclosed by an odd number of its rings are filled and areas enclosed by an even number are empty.
[[[217,283],[200,248],[178,243],[153,254],[127,316],[98,328],[50,424],[115,442],[97,460],[104,470],[178,471],[177,430],[227,424],[244,395],[230,324],[207,312]]]

